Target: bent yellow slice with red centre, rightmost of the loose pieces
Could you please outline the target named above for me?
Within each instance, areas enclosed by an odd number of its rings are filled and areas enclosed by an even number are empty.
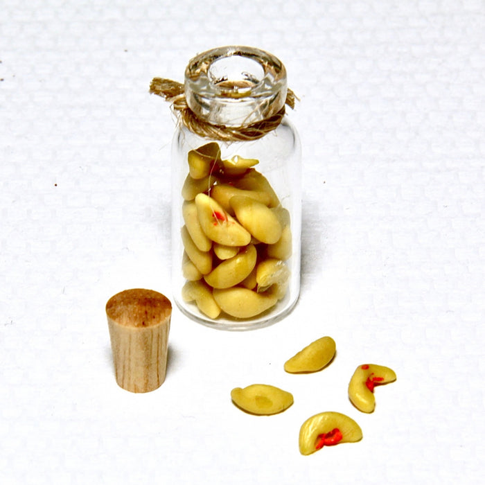
[[[383,365],[362,364],[353,373],[349,382],[351,403],[362,412],[373,412],[376,407],[374,387],[396,380],[396,373]]]

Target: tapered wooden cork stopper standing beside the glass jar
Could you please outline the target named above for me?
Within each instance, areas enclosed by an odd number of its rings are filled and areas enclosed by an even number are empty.
[[[165,380],[172,304],[152,290],[125,290],[106,303],[116,382],[150,392]]]

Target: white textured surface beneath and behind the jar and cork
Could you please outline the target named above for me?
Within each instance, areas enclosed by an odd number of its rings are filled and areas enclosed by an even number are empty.
[[[467,483],[484,473],[485,2],[3,0],[0,482]],[[301,298],[250,333],[174,309],[164,385],[117,387],[104,306],[170,298],[173,119],[148,94],[195,53],[277,55],[301,98]],[[292,376],[322,335],[337,357]],[[392,367],[376,412],[355,367]],[[294,395],[255,417],[233,387]],[[360,443],[303,457],[303,421]]]

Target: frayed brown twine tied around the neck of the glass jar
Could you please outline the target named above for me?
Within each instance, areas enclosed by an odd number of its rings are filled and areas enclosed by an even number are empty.
[[[179,116],[179,121],[188,130],[202,136],[219,141],[249,141],[257,140],[265,134],[272,132],[279,126],[283,116],[285,116],[285,106],[279,112],[256,123],[245,126],[226,126],[212,125],[200,118],[188,107],[184,93],[184,85],[180,82],[164,78],[154,78],[150,83],[150,93],[161,96],[169,103]],[[297,97],[294,92],[288,88],[285,104],[294,108]]]

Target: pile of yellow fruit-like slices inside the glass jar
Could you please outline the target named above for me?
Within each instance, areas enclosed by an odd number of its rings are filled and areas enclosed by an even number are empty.
[[[272,308],[288,290],[290,213],[256,159],[221,159],[218,143],[188,152],[182,187],[182,298],[216,319],[248,319]]]

